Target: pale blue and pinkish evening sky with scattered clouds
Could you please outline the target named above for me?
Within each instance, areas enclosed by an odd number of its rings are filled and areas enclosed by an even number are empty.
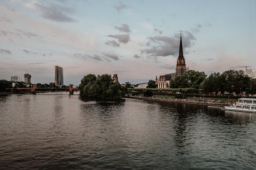
[[[189,69],[256,70],[256,0],[1,0],[0,79],[144,83],[175,72],[180,33]]]

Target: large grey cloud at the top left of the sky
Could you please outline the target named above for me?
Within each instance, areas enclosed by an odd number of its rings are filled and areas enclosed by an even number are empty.
[[[27,3],[25,6],[33,10],[39,10],[42,17],[52,21],[75,22],[75,19],[69,16],[74,13],[74,9],[70,7],[63,7],[52,3],[38,3],[35,1]]]

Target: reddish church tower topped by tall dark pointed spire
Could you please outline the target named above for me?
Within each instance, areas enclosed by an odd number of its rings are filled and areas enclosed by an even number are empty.
[[[180,33],[180,52],[179,52],[179,57],[177,59],[176,76],[183,75],[185,71],[186,71],[186,63],[183,56],[181,33]]]

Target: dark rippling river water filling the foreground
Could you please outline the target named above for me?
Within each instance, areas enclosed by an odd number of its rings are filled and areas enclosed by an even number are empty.
[[[217,168],[256,168],[256,114],[66,92],[0,97],[0,169]]]

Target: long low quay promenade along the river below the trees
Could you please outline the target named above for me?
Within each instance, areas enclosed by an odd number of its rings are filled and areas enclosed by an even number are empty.
[[[138,99],[138,100],[147,100],[147,101],[160,101],[160,102],[172,102],[172,103],[183,103],[183,104],[193,104],[193,105],[205,105],[210,107],[224,107],[230,105],[230,103],[219,103],[219,102],[203,102],[203,101],[195,101],[195,100],[187,100],[187,99],[172,99],[172,98],[145,98],[141,96],[127,96],[130,99]]]

